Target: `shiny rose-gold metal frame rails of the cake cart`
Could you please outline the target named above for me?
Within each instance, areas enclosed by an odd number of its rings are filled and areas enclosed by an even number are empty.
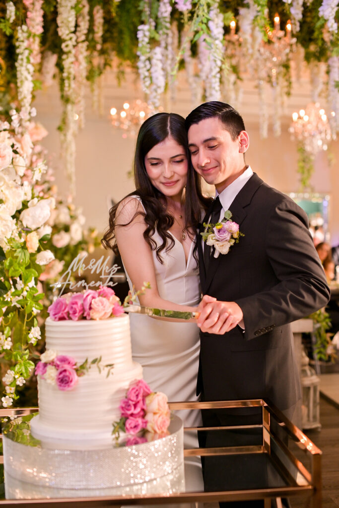
[[[188,503],[188,502],[218,502],[218,501],[245,501],[254,499],[264,499],[265,508],[271,506],[271,499],[276,499],[278,508],[282,505],[282,497],[307,496],[310,500],[311,508],[321,508],[322,488],[321,488],[321,455],[322,452],[315,444],[292,422],[286,419],[283,413],[272,404],[262,400],[237,400],[237,401],[218,401],[218,402],[170,402],[170,409],[224,409],[237,407],[262,407],[262,424],[243,425],[236,427],[185,427],[184,430],[223,430],[223,429],[250,429],[262,428],[262,443],[256,446],[237,446],[237,447],[218,447],[218,448],[197,448],[185,449],[184,456],[211,456],[211,455],[241,455],[267,453],[273,458],[273,462],[279,473],[286,480],[287,486],[251,490],[234,490],[219,492],[182,492],[177,494],[157,494],[147,496],[100,496],[100,497],[72,497],[72,498],[54,498],[54,499],[5,499],[0,500],[0,506],[26,506],[40,507],[44,503],[51,506],[69,507],[69,508],[95,508],[121,505],[142,505],[142,504],[168,504],[168,503]],[[0,409],[0,418],[19,417],[36,412],[39,409],[32,408],[7,408]],[[281,439],[274,434],[271,429],[271,419],[279,422],[284,428],[298,450],[302,451],[310,460],[310,466],[307,468],[304,463],[297,458],[295,454],[286,446]],[[2,435],[0,434],[2,437]],[[271,439],[278,444],[281,457],[272,457]],[[303,478],[303,485],[298,485],[286,466],[286,461],[293,464],[296,470]],[[0,464],[3,463],[3,457],[0,456]]]

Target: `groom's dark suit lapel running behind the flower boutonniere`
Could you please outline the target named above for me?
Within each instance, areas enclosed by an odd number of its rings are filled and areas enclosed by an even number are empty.
[[[232,220],[241,226],[244,218],[246,217],[248,211],[246,207],[251,203],[253,195],[260,185],[263,183],[263,180],[259,178],[259,176],[254,173],[251,178],[245,183],[242,189],[239,190],[238,194],[234,198],[229,210],[232,212]],[[241,238],[239,240],[241,243]],[[240,244],[239,244],[240,245]],[[231,247],[232,248],[232,247]],[[215,273],[217,272],[218,266],[220,264],[221,259],[227,254],[219,254],[218,258],[214,258],[212,256],[207,273],[205,273],[205,282],[203,287],[205,287],[204,293],[206,294],[209,290],[209,287],[213,281]]]

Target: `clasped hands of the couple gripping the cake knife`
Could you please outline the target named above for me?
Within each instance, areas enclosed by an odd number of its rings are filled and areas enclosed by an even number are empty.
[[[223,335],[237,325],[243,328],[243,314],[235,302],[222,302],[212,296],[204,295],[199,303],[197,325],[202,332]]]

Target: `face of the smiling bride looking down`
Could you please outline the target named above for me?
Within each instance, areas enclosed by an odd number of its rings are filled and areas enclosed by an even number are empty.
[[[185,149],[168,137],[153,146],[145,156],[147,175],[165,196],[180,199],[187,181],[188,161]]]

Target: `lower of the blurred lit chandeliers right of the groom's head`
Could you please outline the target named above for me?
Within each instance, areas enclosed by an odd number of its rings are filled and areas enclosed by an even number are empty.
[[[314,156],[320,150],[327,150],[332,135],[325,110],[319,103],[310,103],[299,113],[293,113],[292,120],[291,138],[299,141],[307,152]]]

